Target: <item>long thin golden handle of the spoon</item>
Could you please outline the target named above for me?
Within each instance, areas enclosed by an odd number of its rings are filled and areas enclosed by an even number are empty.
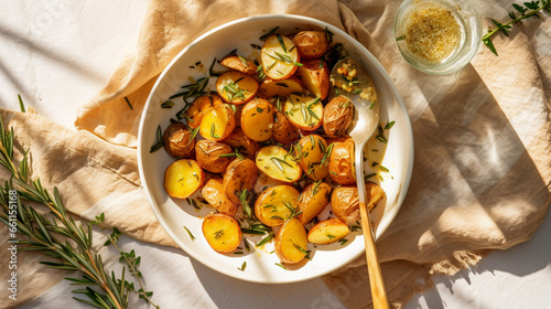
[[[364,147],[365,145],[356,145],[356,182],[358,185],[359,212],[361,215],[361,230],[364,231],[364,241],[366,243],[367,271],[369,274],[369,284],[371,285],[371,298],[375,309],[389,308],[387,299],[387,290],[382,280],[379,258],[377,257],[377,248],[375,246],[375,235],[372,233],[371,220],[366,205],[366,183],[364,180]]]

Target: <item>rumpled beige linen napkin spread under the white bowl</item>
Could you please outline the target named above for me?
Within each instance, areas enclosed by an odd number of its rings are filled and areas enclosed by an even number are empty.
[[[293,13],[332,23],[379,58],[402,94],[413,125],[411,185],[396,221],[377,243],[390,301],[399,308],[413,292],[431,286],[432,274],[454,274],[491,249],[529,239],[551,202],[551,47],[549,42],[534,44],[523,33],[533,35],[537,29],[549,33],[549,19],[516,28],[511,38],[497,38],[499,57],[483,49],[460,73],[429,76],[406,64],[393,45],[391,26],[400,2],[153,0],[136,52],[82,108],[75,122],[80,134],[62,130],[65,134],[54,136],[48,129],[25,134],[24,126],[50,126],[32,115],[15,114],[10,125],[18,137],[26,136],[21,143],[33,149],[35,174],[62,192],[78,192],[67,195],[72,212],[90,219],[109,211],[114,215],[106,217],[121,220],[109,224],[125,233],[173,245],[139,188],[136,152],[110,145],[137,145],[140,111],[155,77],[196,36],[230,20]],[[486,4],[497,7],[493,1],[477,4],[483,11]],[[51,140],[45,142],[44,136]],[[87,181],[89,174],[97,181]],[[110,193],[120,203],[105,202]],[[120,199],[126,193],[136,193],[137,200]],[[143,223],[115,215],[128,211],[142,212]],[[350,308],[370,305],[363,257],[324,279]]]

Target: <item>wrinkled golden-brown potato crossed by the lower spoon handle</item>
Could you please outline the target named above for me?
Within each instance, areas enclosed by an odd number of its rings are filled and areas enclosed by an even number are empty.
[[[379,185],[366,183],[366,204],[372,211],[377,203],[385,196],[385,191]],[[358,189],[350,185],[342,185],[333,190],[331,194],[331,209],[333,213],[349,225],[360,220]]]

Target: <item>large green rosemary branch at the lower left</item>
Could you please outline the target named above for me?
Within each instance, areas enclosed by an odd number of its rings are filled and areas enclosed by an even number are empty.
[[[10,227],[11,241],[18,245],[18,251],[42,252],[57,262],[41,262],[41,264],[54,269],[80,271],[82,278],[65,279],[72,281],[72,285],[86,286],[86,288],[76,289],[73,292],[86,295],[88,299],[73,297],[74,299],[96,308],[127,308],[129,294],[136,290],[133,284],[125,280],[125,267],[121,279],[118,279],[114,271],[108,271],[105,268],[101,256],[93,249],[93,225],[100,224],[99,219],[102,222],[104,214],[84,226],[77,224],[67,214],[57,188],[54,188],[52,195],[44,189],[40,179],[30,179],[29,151],[24,153],[20,163],[15,164],[13,143],[13,128],[6,131],[0,116],[0,164],[11,172],[10,180],[0,185],[0,205],[2,207],[0,222]],[[52,217],[46,217],[33,206],[23,204],[21,200],[46,206]],[[24,235],[25,239],[14,239],[15,230],[19,234]],[[118,235],[108,236],[109,242],[114,245],[116,238]],[[22,246],[20,247],[20,245]],[[125,256],[130,271],[139,279],[141,277],[137,270],[139,257],[136,258],[133,253],[130,255],[122,253],[118,247],[117,249],[121,256]],[[141,289],[136,291],[138,296],[155,306],[149,299],[151,292],[143,291],[141,280],[139,283]]]

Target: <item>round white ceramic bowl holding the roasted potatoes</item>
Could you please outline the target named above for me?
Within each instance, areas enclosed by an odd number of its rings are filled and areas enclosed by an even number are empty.
[[[349,55],[361,61],[380,92],[381,124],[389,120],[396,125],[389,130],[386,153],[380,162],[390,172],[383,173],[381,187],[387,196],[372,213],[374,221],[378,223],[376,237],[388,228],[398,213],[406,196],[413,166],[413,137],[411,124],[396,86],[380,63],[356,40],[344,31],[325,22],[299,15],[257,15],[236,20],[220,25],[201,35],[186,46],[164,70],[156,81],[148,98],[139,130],[138,163],[143,189],[149,198],[151,207],[161,225],[171,237],[190,256],[204,265],[231,277],[255,283],[283,284],[315,278],[343,267],[357,256],[364,254],[365,246],[361,231],[348,235],[349,241],[341,245],[335,243],[313,249],[311,259],[296,266],[283,269],[276,265],[279,263],[273,251],[273,243],[264,248],[255,248],[253,243],[260,238],[251,238],[251,252],[242,249],[242,255],[218,254],[214,252],[204,239],[201,232],[202,216],[214,209],[204,206],[201,211],[193,209],[185,201],[171,199],[163,188],[163,174],[166,167],[173,161],[164,150],[150,153],[150,148],[156,141],[156,128],[166,128],[170,118],[183,106],[181,98],[174,99],[176,106],[172,109],[161,108],[161,104],[188,84],[188,78],[204,77],[213,58],[220,58],[231,50],[237,49],[244,56],[258,53],[251,43],[261,45],[259,38],[267,31],[279,26],[278,33],[291,34],[300,30],[327,29],[335,35],[334,42],[341,42]],[[258,58],[258,57],[257,57]],[[205,67],[198,70],[195,65],[201,62]],[[191,68],[194,67],[194,68]],[[209,88],[216,78],[210,78]],[[185,226],[194,236],[190,237]],[[248,237],[248,236],[247,236]],[[248,237],[250,238],[250,237]],[[242,247],[242,245],[241,245]],[[245,270],[239,270],[247,262]]]

